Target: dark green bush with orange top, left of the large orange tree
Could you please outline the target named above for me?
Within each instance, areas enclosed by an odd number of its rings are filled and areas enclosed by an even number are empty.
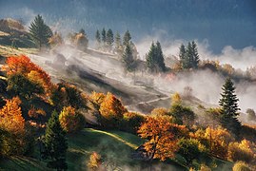
[[[135,112],[127,112],[124,114],[120,129],[132,134],[136,134],[139,126],[144,122],[145,116]]]

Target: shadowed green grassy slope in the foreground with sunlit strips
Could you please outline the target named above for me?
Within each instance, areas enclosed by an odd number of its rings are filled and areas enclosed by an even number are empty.
[[[83,129],[76,135],[69,135],[69,150],[67,161],[69,170],[86,170],[87,161],[91,152],[99,153],[104,162],[109,165],[109,170],[114,167],[118,170],[129,168],[130,170],[141,170],[148,163],[135,161],[130,158],[142,140],[132,134],[121,131],[102,131],[92,128]],[[169,167],[180,170],[182,167],[175,163],[154,163],[161,170]],[[165,169],[166,168],[166,169]],[[12,157],[9,160],[0,161],[0,170],[49,170],[46,163],[35,158]]]

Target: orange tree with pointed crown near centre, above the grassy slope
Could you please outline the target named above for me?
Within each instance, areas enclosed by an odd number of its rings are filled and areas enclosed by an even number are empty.
[[[117,127],[128,110],[113,94],[109,93],[100,105],[100,123],[104,127]]]

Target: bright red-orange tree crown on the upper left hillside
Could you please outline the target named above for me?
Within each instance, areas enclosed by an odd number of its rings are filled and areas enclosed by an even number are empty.
[[[49,74],[40,66],[35,65],[30,61],[30,58],[25,55],[10,56],[7,61],[7,66],[3,66],[7,71],[8,76],[12,74],[22,74],[30,79],[31,82],[41,84],[46,92],[51,89]]]

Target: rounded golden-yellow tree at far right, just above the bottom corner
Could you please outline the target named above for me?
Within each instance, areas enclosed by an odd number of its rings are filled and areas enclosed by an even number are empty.
[[[246,140],[239,142],[230,142],[228,144],[227,158],[230,161],[245,161],[247,163],[252,162],[253,159],[253,145]],[[254,146],[255,148],[255,146]]]

